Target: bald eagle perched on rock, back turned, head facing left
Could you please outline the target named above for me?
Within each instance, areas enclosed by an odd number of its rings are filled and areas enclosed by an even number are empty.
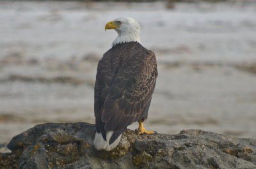
[[[118,36],[99,61],[94,88],[95,149],[111,151],[122,132],[139,122],[138,134],[153,134],[143,128],[156,85],[154,52],[140,43],[140,24],[130,17],[108,22],[105,30]]]

